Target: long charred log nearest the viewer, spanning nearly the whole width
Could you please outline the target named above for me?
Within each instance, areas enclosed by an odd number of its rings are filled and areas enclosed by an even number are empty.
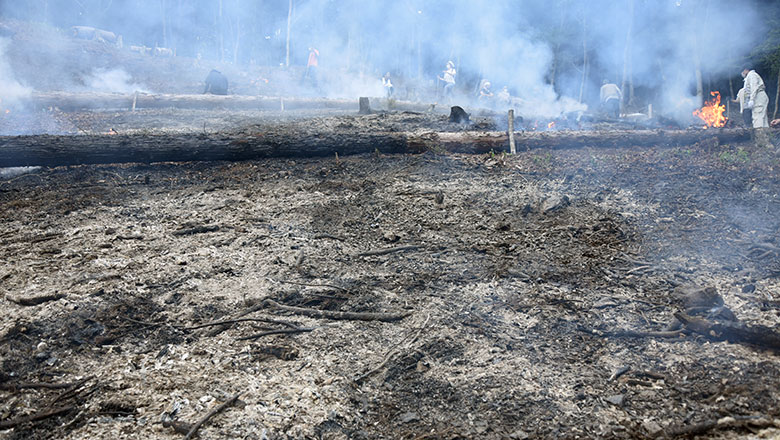
[[[721,144],[746,141],[750,130],[631,130],[515,133],[518,148],[682,146],[717,138]],[[223,134],[105,134],[0,136],[0,167],[98,163],[240,161],[271,157],[425,151],[476,153],[509,151],[507,132],[309,132],[300,125],[263,132]]]

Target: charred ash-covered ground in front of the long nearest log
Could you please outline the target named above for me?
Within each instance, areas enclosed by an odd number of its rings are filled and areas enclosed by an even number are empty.
[[[0,435],[776,436],[779,191],[706,143],[3,178]]]

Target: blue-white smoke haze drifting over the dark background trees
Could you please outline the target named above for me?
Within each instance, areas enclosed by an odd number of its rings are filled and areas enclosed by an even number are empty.
[[[780,13],[774,2],[760,0],[6,0],[0,5],[5,19],[62,29],[93,26],[122,35],[126,46],[168,47],[180,57],[236,66],[284,67],[289,41],[293,66],[305,65],[313,46],[324,70],[371,78],[391,72],[431,85],[452,60],[462,92],[489,79],[496,89],[506,85],[537,107],[561,96],[593,105],[602,81],[609,80],[625,89],[626,106],[655,102],[667,112],[690,114],[707,89],[728,87],[729,79],[738,89],[735,77],[751,54],[766,70],[768,86],[767,74],[776,76],[780,69],[777,63],[762,64],[777,50],[767,35]]]

